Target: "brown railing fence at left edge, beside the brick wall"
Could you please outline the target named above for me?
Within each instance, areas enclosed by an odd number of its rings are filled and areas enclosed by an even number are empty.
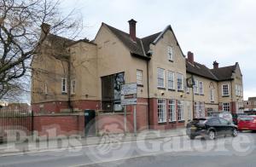
[[[7,136],[17,139],[17,130],[22,130],[26,135],[33,131],[33,115],[31,108],[21,107],[12,109],[4,107],[0,109],[0,141],[6,140]]]

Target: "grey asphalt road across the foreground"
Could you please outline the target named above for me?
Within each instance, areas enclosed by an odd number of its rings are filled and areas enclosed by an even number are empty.
[[[219,137],[214,141],[187,136],[147,141],[113,142],[64,147],[44,152],[0,156],[0,166],[255,166],[256,133]]]

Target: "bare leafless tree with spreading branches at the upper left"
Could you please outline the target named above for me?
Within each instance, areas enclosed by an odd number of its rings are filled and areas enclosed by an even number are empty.
[[[24,89],[30,60],[49,30],[75,37],[81,28],[74,10],[65,16],[61,13],[59,1],[0,0],[0,100]]]

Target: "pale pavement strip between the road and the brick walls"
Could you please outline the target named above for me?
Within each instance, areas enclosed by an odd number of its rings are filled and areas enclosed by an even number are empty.
[[[176,130],[144,130],[143,132],[137,133],[137,136],[131,133],[124,134],[109,134],[102,136],[88,136],[82,137],[77,143],[78,145],[72,145],[68,147],[90,147],[99,144],[110,144],[110,143],[122,143],[122,142],[133,142],[133,141],[146,141],[146,140],[157,140],[166,137],[174,137],[174,136],[183,136],[185,135],[185,129],[176,129]],[[69,143],[68,139],[61,139],[64,143]],[[40,147],[39,147],[40,146]],[[42,147],[43,146],[43,147]],[[64,147],[67,149],[67,147]],[[0,144],[0,157],[22,154],[22,153],[37,153],[37,152],[46,152],[53,151],[60,148],[56,140],[49,141],[40,141],[40,143],[36,141],[22,142],[22,143],[3,143]]]

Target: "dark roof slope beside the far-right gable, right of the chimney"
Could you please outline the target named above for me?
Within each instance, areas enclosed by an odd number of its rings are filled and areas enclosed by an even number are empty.
[[[219,67],[211,70],[211,72],[218,78],[219,81],[233,79],[232,73],[235,71],[236,71],[236,65],[224,66],[224,67]]]

